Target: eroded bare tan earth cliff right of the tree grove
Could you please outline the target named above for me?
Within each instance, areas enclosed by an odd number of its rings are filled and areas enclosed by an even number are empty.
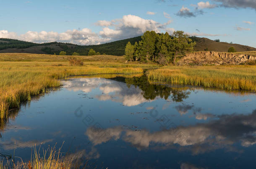
[[[178,61],[178,65],[239,65],[250,60],[256,61],[256,57],[238,53],[203,51],[190,53],[184,56],[180,61]]]

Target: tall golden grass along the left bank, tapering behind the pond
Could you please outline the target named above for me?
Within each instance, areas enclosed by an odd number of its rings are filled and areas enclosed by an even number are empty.
[[[55,62],[54,62],[55,63]],[[55,63],[56,64],[56,63]],[[51,62],[0,62],[0,119],[10,108],[18,107],[31,96],[61,85],[69,76],[101,73],[142,73],[142,68],[99,68],[96,66],[54,66]]]

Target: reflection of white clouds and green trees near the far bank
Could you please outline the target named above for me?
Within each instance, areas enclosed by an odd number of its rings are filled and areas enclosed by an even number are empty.
[[[125,82],[125,83],[124,83]],[[123,78],[115,77],[111,80],[104,78],[79,78],[65,81],[64,86],[73,91],[86,93],[99,88],[102,93],[95,95],[100,101],[111,100],[121,102],[124,106],[136,106],[141,103],[154,101],[157,98],[167,100],[171,96],[172,101],[181,102],[188,98],[188,88],[171,88],[165,85],[151,84],[146,76]]]

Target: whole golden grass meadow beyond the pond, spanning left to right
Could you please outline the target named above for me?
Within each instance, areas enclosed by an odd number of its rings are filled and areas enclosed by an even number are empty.
[[[83,66],[70,66],[74,56],[0,54],[0,119],[31,96],[61,86],[60,79],[95,74],[143,73],[149,81],[256,91],[256,66],[165,66],[126,63],[122,56],[75,56]],[[152,69],[153,68],[153,69]]]

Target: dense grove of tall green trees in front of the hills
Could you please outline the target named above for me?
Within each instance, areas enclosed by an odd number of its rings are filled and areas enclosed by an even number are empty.
[[[185,55],[186,51],[192,51],[196,42],[183,31],[175,31],[172,35],[167,32],[155,33],[146,31],[138,43],[130,42],[125,47],[125,58],[128,61],[154,61],[162,65],[169,62],[175,63],[177,56]]]

